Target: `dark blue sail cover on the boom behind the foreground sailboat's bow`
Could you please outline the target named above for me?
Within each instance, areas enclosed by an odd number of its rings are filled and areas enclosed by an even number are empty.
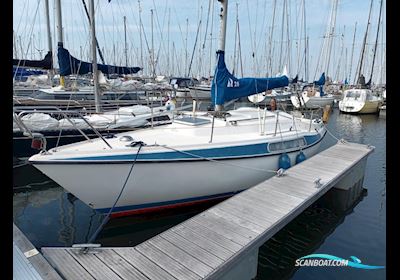
[[[58,47],[58,64],[60,66],[60,75],[68,76],[71,74],[87,74],[92,72],[92,63],[81,61],[70,55],[67,49]],[[98,69],[104,74],[135,74],[142,68],[123,67],[106,64],[97,64]]]

